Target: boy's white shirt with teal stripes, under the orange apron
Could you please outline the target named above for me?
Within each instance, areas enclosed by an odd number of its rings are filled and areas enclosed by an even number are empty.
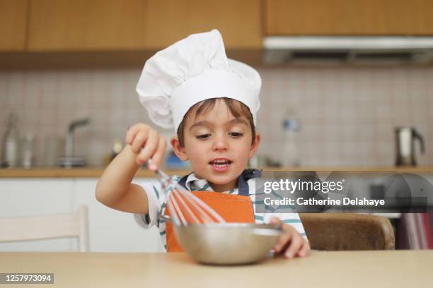
[[[172,176],[171,183],[177,183],[180,181],[180,176]],[[266,211],[266,212],[258,212],[255,209],[256,201],[255,201],[255,179],[249,179],[248,180],[248,188],[250,191],[250,199],[253,203],[253,210],[254,210],[254,219],[256,224],[262,224],[262,223],[268,223],[270,222],[270,219],[272,217],[278,217],[280,220],[282,220],[283,223],[289,224],[293,226],[296,231],[301,234],[305,239],[306,234],[304,230],[304,226],[302,225],[301,219],[299,218],[298,213],[293,210],[293,212],[288,213],[277,213],[275,211]],[[147,199],[149,202],[149,214],[147,215],[134,215],[135,220],[138,222],[139,225],[142,227],[152,227],[156,225],[159,229],[159,234],[161,236],[161,241],[163,243],[164,248],[167,249],[166,245],[166,223],[163,220],[158,219],[158,215],[163,215],[166,210],[166,193],[164,192],[163,188],[161,188],[161,184],[158,181],[146,181],[141,184],[144,188],[144,191],[147,193]],[[185,183],[186,188],[189,191],[211,191],[212,187],[207,183],[206,179],[198,179],[197,176],[195,176],[195,173],[190,174],[187,176],[187,181]],[[169,187],[170,190],[174,187]],[[230,191],[221,192],[221,193],[227,193],[227,194],[238,194],[238,188],[231,189]],[[265,209],[266,210],[266,209]],[[287,211],[285,209],[284,211]],[[307,239],[308,240],[308,239]]]

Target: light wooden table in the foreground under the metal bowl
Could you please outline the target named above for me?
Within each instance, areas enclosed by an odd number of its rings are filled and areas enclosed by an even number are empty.
[[[231,267],[185,253],[0,253],[0,272],[54,272],[35,287],[433,287],[433,251],[312,251]]]

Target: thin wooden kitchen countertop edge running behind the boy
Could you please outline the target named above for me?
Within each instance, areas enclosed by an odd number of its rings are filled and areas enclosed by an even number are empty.
[[[0,169],[0,178],[98,178],[105,167],[86,167],[64,169],[60,167],[35,167],[32,169]],[[265,171],[371,171],[371,172],[433,172],[433,167],[262,167]],[[191,172],[187,169],[164,169],[169,175],[185,175]],[[154,177],[154,172],[140,169],[137,177]]]

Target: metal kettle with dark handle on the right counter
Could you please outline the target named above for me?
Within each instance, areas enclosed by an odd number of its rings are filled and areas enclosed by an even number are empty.
[[[420,140],[421,152],[425,152],[424,138],[412,127],[396,128],[396,166],[415,166],[415,140]]]

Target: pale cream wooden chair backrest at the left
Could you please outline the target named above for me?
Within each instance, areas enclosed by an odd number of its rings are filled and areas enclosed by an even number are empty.
[[[0,218],[0,242],[77,237],[79,251],[88,252],[88,211],[71,214]]]

